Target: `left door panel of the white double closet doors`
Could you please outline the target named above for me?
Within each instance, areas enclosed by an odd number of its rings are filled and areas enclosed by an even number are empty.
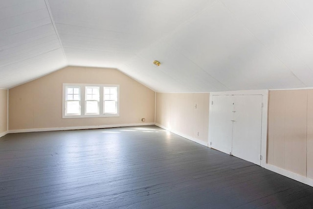
[[[221,152],[231,153],[232,141],[232,97],[229,95],[213,95],[209,134],[211,148]]]

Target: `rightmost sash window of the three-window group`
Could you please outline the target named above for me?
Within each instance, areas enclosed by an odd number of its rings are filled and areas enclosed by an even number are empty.
[[[117,87],[104,87],[103,114],[117,114]]]

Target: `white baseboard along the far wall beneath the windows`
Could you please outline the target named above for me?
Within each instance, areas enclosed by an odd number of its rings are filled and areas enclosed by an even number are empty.
[[[99,126],[75,126],[75,127],[58,127],[58,128],[32,128],[9,130],[8,133],[26,133],[26,132],[41,132],[41,131],[67,131],[67,130],[81,130],[81,129],[98,129],[98,128],[116,128],[126,126],[144,126],[154,125],[155,123],[129,123],[129,124],[113,124],[113,125],[99,125]]]

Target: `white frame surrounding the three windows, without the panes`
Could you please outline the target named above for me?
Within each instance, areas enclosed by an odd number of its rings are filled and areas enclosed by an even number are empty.
[[[67,87],[80,87],[80,111],[81,115],[66,115],[65,105],[66,105],[66,89]],[[86,114],[85,104],[86,104],[86,87],[99,87],[99,114],[89,115]],[[117,114],[104,114],[104,87],[117,87]],[[62,99],[62,118],[82,118],[82,117],[118,117],[119,116],[119,85],[112,84],[63,84],[63,99]]]

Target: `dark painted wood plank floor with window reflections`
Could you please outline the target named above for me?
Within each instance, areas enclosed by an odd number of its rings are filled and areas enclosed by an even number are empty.
[[[156,126],[0,138],[0,208],[313,208],[313,187]]]

